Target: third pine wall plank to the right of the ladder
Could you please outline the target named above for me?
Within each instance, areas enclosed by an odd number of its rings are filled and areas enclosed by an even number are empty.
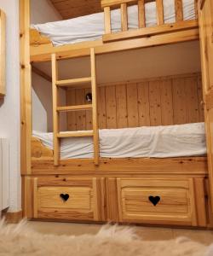
[[[127,122],[127,95],[126,85],[121,84],[116,86],[116,105],[117,105],[117,127],[125,128]]]

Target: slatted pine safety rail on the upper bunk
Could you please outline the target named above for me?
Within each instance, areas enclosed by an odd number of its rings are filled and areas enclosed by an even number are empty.
[[[146,27],[145,4],[147,2],[156,3],[157,25]],[[128,28],[128,4],[138,6],[138,29]],[[164,1],[163,0],[101,0],[101,7],[104,9],[105,35],[104,42],[124,40],[129,38],[144,37],[169,31],[179,31],[198,26],[195,20],[183,20],[182,0],[175,0],[176,23],[164,24]],[[112,32],[111,9],[120,8],[121,32]],[[197,19],[197,0],[194,1],[195,14]]]

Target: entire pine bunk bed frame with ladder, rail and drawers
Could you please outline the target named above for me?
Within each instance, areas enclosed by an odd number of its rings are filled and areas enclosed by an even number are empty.
[[[29,0],[20,0],[22,188],[27,218],[71,221],[125,222],[212,226],[207,201],[206,157],[110,159],[99,157],[95,55],[199,39],[197,20],[183,20],[182,1],[176,0],[176,23],[164,24],[163,1],[156,0],[158,26],[145,27],[144,0],[102,0],[105,34],[101,40],[55,47],[29,29]],[[147,1],[150,2],[150,1]],[[155,2],[155,1],[154,1]],[[199,12],[205,7],[200,1]],[[208,2],[208,1],[206,1]],[[209,1],[210,2],[210,1]],[[139,28],[128,31],[127,4],[138,4]],[[197,14],[197,1],[195,10]],[[111,30],[110,10],[121,9],[122,31]],[[91,77],[58,80],[57,60],[90,56]],[[31,63],[52,61],[54,150],[32,137]],[[87,80],[86,80],[87,79]],[[91,82],[89,106],[57,106],[57,87]],[[58,113],[91,108],[93,132],[60,134]],[[60,160],[60,137],[93,136],[94,160]],[[211,187],[210,187],[211,189]]]

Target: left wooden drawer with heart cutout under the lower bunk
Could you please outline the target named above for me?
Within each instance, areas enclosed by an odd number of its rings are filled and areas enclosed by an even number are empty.
[[[97,178],[36,177],[33,218],[101,220]]]

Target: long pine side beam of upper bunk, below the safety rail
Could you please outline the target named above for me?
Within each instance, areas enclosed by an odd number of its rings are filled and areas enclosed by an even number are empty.
[[[55,53],[59,59],[89,56],[89,49],[95,48],[95,54],[112,53],[127,49],[140,49],[162,44],[175,44],[199,39],[199,29],[183,29],[177,32],[164,32],[144,38],[127,39],[120,42],[103,44],[102,40],[54,47],[52,45],[40,45],[31,48],[31,61],[50,61],[50,55]]]

